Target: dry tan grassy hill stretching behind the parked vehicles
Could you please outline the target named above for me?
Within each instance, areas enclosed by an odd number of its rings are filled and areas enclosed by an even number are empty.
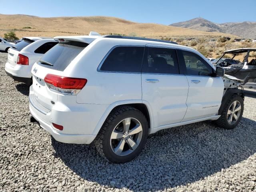
[[[24,29],[24,27],[31,28]],[[0,14],[0,36],[11,30],[19,38],[22,36],[84,35],[92,30],[100,34],[125,34],[148,38],[159,38],[160,36],[227,36],[227,34],[220,32],[204,32],[161,24],[136,23],[105,16],[41,18],[20,14]]]

